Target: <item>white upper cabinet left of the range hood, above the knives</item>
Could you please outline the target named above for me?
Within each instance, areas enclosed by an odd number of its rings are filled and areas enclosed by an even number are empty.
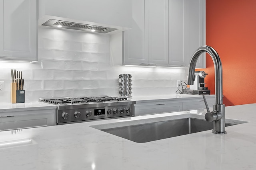
[[[0,60],[38,61],[37,0],[0,0]]]

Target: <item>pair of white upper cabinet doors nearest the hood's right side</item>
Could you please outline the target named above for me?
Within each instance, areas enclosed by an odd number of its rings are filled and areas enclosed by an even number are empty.
[[[133,0],[132,13],[123,64],[168,65],[168,0]]]

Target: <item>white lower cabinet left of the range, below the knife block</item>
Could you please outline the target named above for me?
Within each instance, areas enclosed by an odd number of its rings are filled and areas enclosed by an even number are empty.
[[[55,112],[43,109],[0,113],[0,131],[55,125]]]

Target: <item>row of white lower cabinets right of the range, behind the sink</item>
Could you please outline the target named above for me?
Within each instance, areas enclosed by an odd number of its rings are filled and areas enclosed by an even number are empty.
[[[215,96],[205,96],[209,107],[213,107]],[[205,109],[203,98],[184,98],[175,100],[137,101],[134,105],[135,116]]]

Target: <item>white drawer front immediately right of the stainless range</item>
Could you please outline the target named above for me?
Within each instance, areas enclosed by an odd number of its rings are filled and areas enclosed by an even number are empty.
[[[134,106],[135,116],[182,111],[182,103],[152,103]]]

